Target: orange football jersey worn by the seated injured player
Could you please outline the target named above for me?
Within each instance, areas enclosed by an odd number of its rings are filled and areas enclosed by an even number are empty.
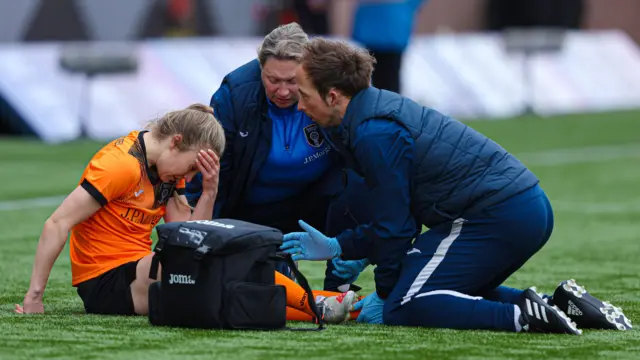
[[[79,185],[102,207],[71,230],[72,284],[93,279],[151,253],[151,232],[185,181],[163,183],[147,164],[144,132],[133,131],[98,151]]]

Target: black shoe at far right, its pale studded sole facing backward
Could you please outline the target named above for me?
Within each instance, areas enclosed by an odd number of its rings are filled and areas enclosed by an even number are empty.
[[[553,304],[581,328],[631,330],[631,321],[622,309],[595,298],[573,279],[558,285],[553,293]]]

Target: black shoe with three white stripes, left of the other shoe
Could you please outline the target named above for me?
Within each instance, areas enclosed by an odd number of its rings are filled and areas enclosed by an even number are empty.
[[[524,291],[520,298],[520,324],[528,332],[581,335],[582,330],[557,306],[549,305],[535,287]]]

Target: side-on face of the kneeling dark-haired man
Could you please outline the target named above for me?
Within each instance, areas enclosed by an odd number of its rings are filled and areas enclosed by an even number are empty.
[[[323,99],[302,66],[296,70],[298,83],[298,110],[304,111],[316,124],[322,127],[336,126],[340,123],[337,109]]]

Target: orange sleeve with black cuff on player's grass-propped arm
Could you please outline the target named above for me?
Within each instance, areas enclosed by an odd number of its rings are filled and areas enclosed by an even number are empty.
[[[91,159],[80,186],[104,206],[130,191],[139,181],[140,166],[137,161],[106,154]]]

